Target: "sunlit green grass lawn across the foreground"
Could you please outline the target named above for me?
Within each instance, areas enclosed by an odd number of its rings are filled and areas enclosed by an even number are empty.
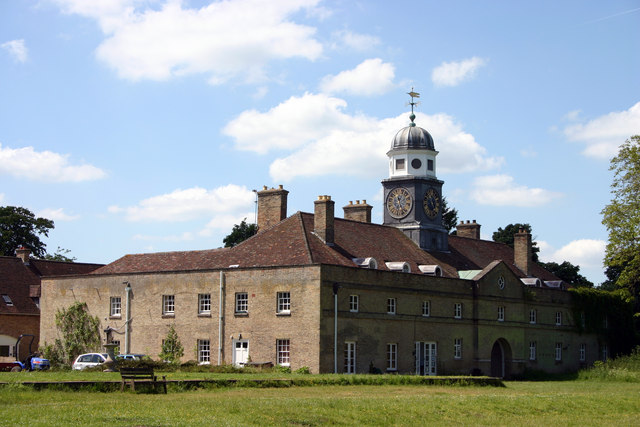
[[[640,383],[316,386],[169,394],[0,387],[0,425],[640,425]]]

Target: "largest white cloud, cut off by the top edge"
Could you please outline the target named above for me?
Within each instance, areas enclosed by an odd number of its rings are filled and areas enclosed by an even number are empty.
[[[96,19],[107,36],[98,59],[129,80],[167,80],[208,75],[211,84],[233,77],[265,79],[273,60],[315,60],[322,45],[316,29],[293,22],[319,0],[217,1],[200,9],[167,1],[152,9],[143,1],[107,0],[93,7],[81,0],[58,0],[63,10]],[[140,5],[136,8],[135,6]]]

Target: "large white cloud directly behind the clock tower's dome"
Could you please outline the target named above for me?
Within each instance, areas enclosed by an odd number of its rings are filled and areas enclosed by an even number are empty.
[[[292,151],[270,166],[275,181],[296,176],[342,174],[377,177],[386,170],[386,152],[393,136],[408,125],[408,114],[376,119],[343,110],[346,101],[324,94],[291,97],[265,113],[245,111],[223,130],[237,149],[267,153]],[[417,114],[416,123],[434,138],[438,171],[463,173],[489,170],[502,164],[446,114]]]

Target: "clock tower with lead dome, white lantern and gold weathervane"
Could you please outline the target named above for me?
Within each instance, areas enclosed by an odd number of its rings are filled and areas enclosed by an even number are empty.
[[[411,124],[398,131],[391,143],[389,178],[384,188],[384,225],[401,229],[420,248],[428,251],[448,250],[448,232],[442,225],[442,184],[436,178],[438,152],[433,138],[416,126],[414,98],[411,96]]]

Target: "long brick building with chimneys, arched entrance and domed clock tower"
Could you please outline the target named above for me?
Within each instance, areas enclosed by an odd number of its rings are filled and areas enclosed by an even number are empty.
[[[288,191],[258,192],[257,235],[233,248],[126,255],[90,274],[44,279],[42,341],[55,312],[88,304],[121,351],[160,352],[174,326],[186,360],[272,362],[312,372],[486,374],[575,371],[606,349],[580,333],[564,284],[480,224],[442,226],[433,139],[412,123],[393,139],[384,224],[322,195],[287,217]]]

